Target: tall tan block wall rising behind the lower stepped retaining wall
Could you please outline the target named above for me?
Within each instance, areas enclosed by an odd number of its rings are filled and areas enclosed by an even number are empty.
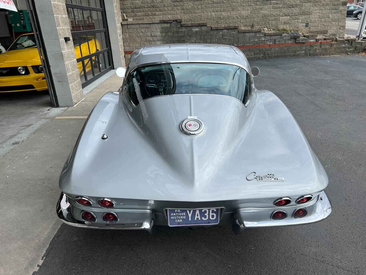
[[[135,21],[182,18],[183,22],[208,25],[308,32],[327,29],[341,37],[346,5],[345,0],[120,0],[121,12]]]

